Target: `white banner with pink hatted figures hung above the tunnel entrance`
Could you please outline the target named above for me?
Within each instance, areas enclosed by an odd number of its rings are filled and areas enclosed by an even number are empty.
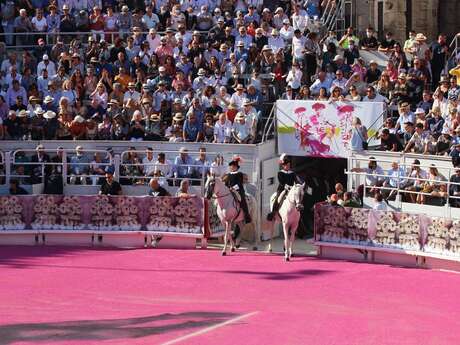
[[[352,120],[367,128],[369,146],[379,145],[383,125],[381,102],[276,102],[278,151],[293,156],[346,158],[350,151]]]

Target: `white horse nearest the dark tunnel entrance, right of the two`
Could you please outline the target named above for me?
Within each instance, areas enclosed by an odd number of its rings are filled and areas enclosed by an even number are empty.
[[[292,256],[292,245],[295,239],[295,233],[300,221],[300,212],[303,210],[303,194],[304,194],[305,183],[294,184],[287,192],[286,198],[283,204],[278,210],[278,214],[273,218],[271,227],[271,238],[270,244],[268,245],[268,251],[272,251],[273,233],[275,231],[275,225],[281,221],[283,225],[284,233],[284,259],[289,261]],[[274,194],[271,200],[271,207],[275,201]]]

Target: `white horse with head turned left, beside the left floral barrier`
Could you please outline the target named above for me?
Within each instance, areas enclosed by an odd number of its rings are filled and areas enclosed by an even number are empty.
[[[206,180],[205,184],[205,197],[206,199],[214,198],[217,203],[217,216],[219,217],[222,226],[225,229],[224,236],[224,249],[222,255],[227,255],[227,243],[230,242],[230,249],[232,252],[235,251],[235,242],[239,242],[239,237],[243,232],[244,228],[244,212],[241,206],[235,201],[230,189],[224,184],[224,182],[216,176],[210,175]],[[253,202],[250,199],[248,201],[249,212],[251,212],[251,206]],[[233,240],[232,229],[234,225],[238,225],[240,228],[240,235],[238,238]]]

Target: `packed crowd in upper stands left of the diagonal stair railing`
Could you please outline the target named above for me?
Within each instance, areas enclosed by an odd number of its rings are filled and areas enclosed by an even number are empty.
[[[0,49],[1,138],[253,143],[284,86],[316,73],[298,44],[318,47],[317,0],[0,5],[24,48]]]

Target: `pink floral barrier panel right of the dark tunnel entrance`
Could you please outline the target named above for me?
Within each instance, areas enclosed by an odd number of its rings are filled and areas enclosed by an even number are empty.
[[[315,205],[315,240],[460,256],[460,220]]]

